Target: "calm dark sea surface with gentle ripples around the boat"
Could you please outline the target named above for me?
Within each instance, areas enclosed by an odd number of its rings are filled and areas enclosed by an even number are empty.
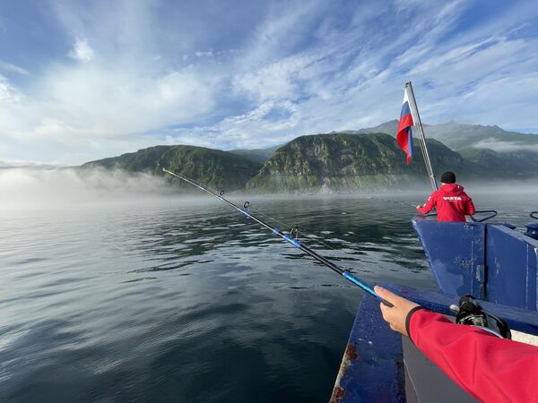
[[[434,288],[417,200],[381,199],[251,203],[361,279]],[[363,297],[209,198],[3,210],[0,236],[3,401],[325,402]]]

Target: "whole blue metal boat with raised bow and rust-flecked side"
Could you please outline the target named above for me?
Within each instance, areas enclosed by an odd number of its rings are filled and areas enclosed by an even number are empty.
[[[525,233],[509,223],[469,219],[438,222],[412,218],[438,291],[383,285],[438,313],[454,317],[460,296],[478,297],[483,309],[504,319],[513,339],[537,344],[538,222]],[[538,211],[531,213],[538,219]],[[449,240],[449,242],[447,242]],[[374,298],[360,303],[331,397],[348,402],[476,401],[431,363],[411,340],[390,330]]]

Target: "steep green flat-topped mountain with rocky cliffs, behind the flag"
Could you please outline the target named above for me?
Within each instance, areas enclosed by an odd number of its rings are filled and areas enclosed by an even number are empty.
[[[438,170],[460,167],[473,176],[476,167],[439,141],[428,141]],[[407,166],[395,138],[386,133],[330,133],[301,136],[276,150],[247,183],[253,193],[352,192],[402,187],[426,176],[419,163]]]

